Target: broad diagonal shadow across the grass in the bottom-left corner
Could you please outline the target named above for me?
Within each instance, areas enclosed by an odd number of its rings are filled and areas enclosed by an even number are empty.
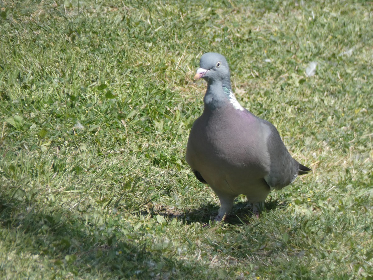
[[[51,211],[51,212],[50,212]],[[120,221],[120,220],[119,220]],[[43,267],[46,278],[79,277],[95,278],[173,278],[174,268],[185,275],[199,274],[206,270],[197,263],[164,256],[162,248],[148,251],[153,240],[141,233],[134,238],[118,234],[115,225],[101,227],[87,222],[81,215],[66,209],[51,209],[30,205],[0,192],[0,237],[4,253],[29,256],[37,261],[22,264],[23,276],[38,278]],[[117,236],[121,236],[120,238]],[[7,247],[9,244],[9,247]],[[36,264],[35,262],[38,262]],[[13,262],[4,262],[2,271],[17,271]]]

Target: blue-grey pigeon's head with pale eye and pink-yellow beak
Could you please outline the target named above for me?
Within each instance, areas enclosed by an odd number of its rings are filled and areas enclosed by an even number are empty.
[[[221,81],[231,84],[228,62],[220,53],[205,53],[200,60],[200,68],[194,76],[194,82],[203,78],[207,83]]]

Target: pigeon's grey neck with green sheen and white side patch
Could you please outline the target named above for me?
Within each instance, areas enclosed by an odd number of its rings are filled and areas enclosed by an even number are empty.
[[[239,105],[236,97],[234,96],[230,84],[223,85],[222,83],[216,82],[208,84],[203,102],[205,104],[205,108],[210,110],[230,105],[236,110],[244,111],[244,108]]]

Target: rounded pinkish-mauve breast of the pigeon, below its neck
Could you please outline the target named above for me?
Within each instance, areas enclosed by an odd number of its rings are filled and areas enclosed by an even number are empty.
[[[193,151],[192,155],[188,150]],[[266,131],[247,110],[205,110],[192,127],[186,160],[206,177],[207,183],[217,176],[260,180],[268,174],[270,165]]]

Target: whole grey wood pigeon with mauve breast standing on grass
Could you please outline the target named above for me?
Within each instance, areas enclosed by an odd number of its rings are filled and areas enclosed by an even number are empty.
[[[259,217],[273,189],[282,189],[311,169],[291,157],[273,124],[238,103],[224,56],[205,53],[194,82],[200,78],[207,81],[204,110],[192,125],[186,162],[219,197],[215,221],[232,210],[238,195],[247,197]]]

